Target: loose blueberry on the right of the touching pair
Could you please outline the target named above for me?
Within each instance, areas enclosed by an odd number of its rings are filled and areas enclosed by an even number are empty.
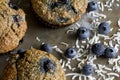
[[[108,47],[105,49],[104,55],[107,58],[114,58],[114,57],[116,57],[117,53],[113,47]]]

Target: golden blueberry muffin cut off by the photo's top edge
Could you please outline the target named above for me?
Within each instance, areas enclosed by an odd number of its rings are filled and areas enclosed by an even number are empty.
[[[44,22],[65,26],[78,21],[86,12],[87,0],[31,0],[33,10]]]

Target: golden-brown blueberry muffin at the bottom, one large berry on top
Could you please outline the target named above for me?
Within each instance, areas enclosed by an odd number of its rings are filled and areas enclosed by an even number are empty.
[[[59,61],[36,49],[14,55],[0,80],[66,80]]]

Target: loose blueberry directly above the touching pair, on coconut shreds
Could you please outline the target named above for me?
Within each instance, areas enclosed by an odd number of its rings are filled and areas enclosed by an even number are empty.
[[[108,24],[107,22],[102,22],[98,26],[98,32],[100,34],[108,34],[110,32],[110,24]]]

